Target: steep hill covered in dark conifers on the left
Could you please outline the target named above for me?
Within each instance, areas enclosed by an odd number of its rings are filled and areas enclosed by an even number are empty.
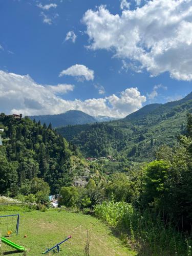
[[[54,194],[86,172],[89,179],[89,165],[79,158],[77,148],[52,130],[51,125],[2,113],[1,128],[4,133],[0,147],[0,195],[15,195],[18,191],[23,194],[21,191],[26,191],[36,178],[47,182]]]

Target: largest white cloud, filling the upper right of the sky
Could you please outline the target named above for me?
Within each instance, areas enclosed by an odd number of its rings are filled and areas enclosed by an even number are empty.
[[[140,4],[140,1],[136,1]],[[83,16],[92,50],[115,52],[152,76],[192,80],[192,0],[153,0],[114,15],[104,6]]]

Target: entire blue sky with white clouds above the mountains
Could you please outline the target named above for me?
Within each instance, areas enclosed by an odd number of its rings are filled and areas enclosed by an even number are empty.
[[[192,0],[0,0],[0,112],[125,117],[192,91]]]

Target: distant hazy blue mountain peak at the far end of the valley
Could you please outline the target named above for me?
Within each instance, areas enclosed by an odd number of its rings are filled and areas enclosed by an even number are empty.
[[[29,118],[37,122],[40,120],[42,124],[51,123],[53,127],[97,122],[94,117],[78,110],[69,110],[58,115],[30,116]]]

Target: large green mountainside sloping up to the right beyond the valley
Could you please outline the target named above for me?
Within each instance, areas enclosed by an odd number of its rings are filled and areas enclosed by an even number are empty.
[[[121,154],[133,161],[151,161],[159,145],[177,142],[188,112],[192,112],[192,93],[181,100],[146,105],[117,121],[59,127],[57,131],[87,157]]]

